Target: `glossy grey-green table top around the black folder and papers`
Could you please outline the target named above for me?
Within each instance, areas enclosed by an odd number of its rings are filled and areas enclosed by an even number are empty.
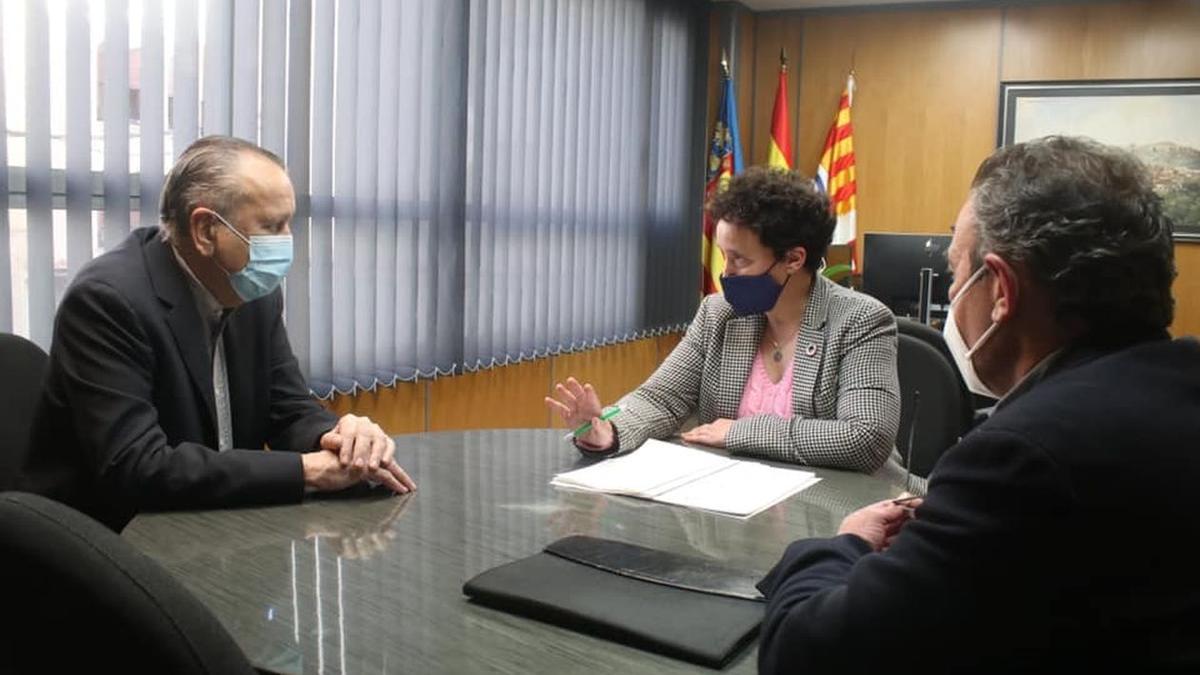
[[[582,461],[553,431],[398,436],[420,489],[302,504],[138,516],[124,536],[175,573],[256,667],[278,673],[571,670],[688,673],[685,663],[466,602],[470,577],[570,534],[768,569],[796,538],[898,494],[888,480],[822,480],[749,520],[556,490]],[[731,668],[754,670],[752,650]]]

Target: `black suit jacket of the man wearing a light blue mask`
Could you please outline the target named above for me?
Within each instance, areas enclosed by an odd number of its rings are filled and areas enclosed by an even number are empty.
[[[292,354],[282,294],[223,340],[235,448],[217,452],[211,356],[186,273],[157,228],[88,263],[62,298],[25,488],[121,530],[143,509],[295,502],[300,456],[336,419]],[[269,446],[276,452],[264,452]]]

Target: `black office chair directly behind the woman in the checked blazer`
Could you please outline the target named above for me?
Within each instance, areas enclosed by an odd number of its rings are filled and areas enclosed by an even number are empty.
[[[971,395],[948,354],[948,350],[942,353],[908,333],[899,335],[896,448],[908,470],[920,477],[929,477],[937,459],[966,434],[974,418]]]

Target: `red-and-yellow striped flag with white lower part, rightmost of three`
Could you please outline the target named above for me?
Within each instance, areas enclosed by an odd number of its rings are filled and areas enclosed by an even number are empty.
[[[852,265],[858,269],[858,251],[854,246],[854,127],[850,123],[853,97],[854,73],[851,72],[846,78],[846,90],[838,102],[838,117],[826,137],[821,162],[817,165],[816,184],[818,190],[829,195],[829,205],[838,216],[833,243],[850,245]]]

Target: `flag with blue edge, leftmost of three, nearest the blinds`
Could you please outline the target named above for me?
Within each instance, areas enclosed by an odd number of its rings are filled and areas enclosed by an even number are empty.
[[[716,109],[716,123],[713,125],[713,143],[708,150],[708,172],[704,184],[704,203],[725,185],[734,173],[742,173],[742,142],[738,138],[738,108],[733,96],[733,78],[730,76],[730,64],[721,56],[721,74],[725,86],[721,88],[721,103]],[[713,241],[716,237],[716,223],[704,213],[704,237],[700,246],[700,261],[704,279],[703,294],[721,289],[721,275],[725,274],[725,256]]]

